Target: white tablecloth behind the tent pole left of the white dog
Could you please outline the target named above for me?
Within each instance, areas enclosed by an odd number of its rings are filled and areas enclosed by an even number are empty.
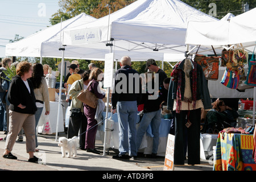
[[[58,107],[59,107],[59,102],[50,101],[49,121],[52,129],[52,133],[56,133]],[[42,126],[44,124],[44,120],[46,119],[46,115],[44,115],[44,113],[46,113],[45,107],[42,111],[42,115],[38,122],[38,133],[42,133]],[[63,132],[63,131],[64,131],[63,106],[61,105],[58,132]]]

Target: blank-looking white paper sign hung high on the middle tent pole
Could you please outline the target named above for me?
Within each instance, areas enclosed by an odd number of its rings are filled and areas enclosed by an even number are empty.
[[[105,55],[104,67],[104,88],[112,87],[113,83],[113,67],[114,67],[114,53],[107,53]]]

